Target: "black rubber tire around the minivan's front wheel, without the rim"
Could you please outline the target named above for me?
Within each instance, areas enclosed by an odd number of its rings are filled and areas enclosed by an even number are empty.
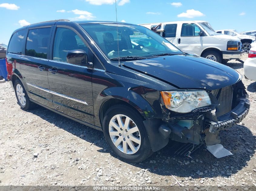
[[[139,129],[141,145],[138,151],[136,151],[134,154],[125,154],[124,152],[120,151],[111,140],[111,137],[109,134],[109,123],[112,117],[118,114],[125,115],[131,118],[131,120],[136,124],[136,126]],[[103,124],[103,133],[109,147],[121,159],[132,162],[132,163],[138,163],[138,162],[144,161],[151,154],[153,154],[150,143],[149,143],[148,134],[143,123],[143,118],[139,115],[139,113],[137,113],[137,111],[125,105],[113,106],[107,110],[102,124]]]

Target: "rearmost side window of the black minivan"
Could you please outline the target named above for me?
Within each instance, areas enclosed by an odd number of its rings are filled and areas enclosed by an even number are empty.
[[[22,54],[22,45],[25,36],[25,30],[19,30],[12,35],[9,43],[8,53]]]

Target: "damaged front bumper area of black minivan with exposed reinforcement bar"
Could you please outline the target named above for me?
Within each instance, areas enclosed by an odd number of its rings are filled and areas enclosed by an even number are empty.
[[[232,92],[238,92],[238,94],[234,94],[234,103],[232,103],[232,107],[230,106],[229,112],[224,113],[222,111],[221,113],[218,110],[220,103],[216,99],[214,106],[201,108],[187,115],[172,116],[170,119],[165,120],[158,128],[161,136],[174,141],[193,143],[195,145],[205,144],[208,146],[220,143],[219,132],[240,123],[248,114],[250,108],[249,97],[243,84],[240,82],[233,86],[234,91]]]

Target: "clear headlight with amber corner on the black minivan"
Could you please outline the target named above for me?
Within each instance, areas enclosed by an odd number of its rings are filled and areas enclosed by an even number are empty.
[[[196,108],[211,105],[207,92],[202,91],[161,91],[165,107],[178,113],[188,113]]]

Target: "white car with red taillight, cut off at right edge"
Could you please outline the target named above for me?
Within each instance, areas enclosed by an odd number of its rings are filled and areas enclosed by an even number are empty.
[[[256,43],[254,45],[248,53],[248,59],[244,62],[244,77],[256,81]]]

